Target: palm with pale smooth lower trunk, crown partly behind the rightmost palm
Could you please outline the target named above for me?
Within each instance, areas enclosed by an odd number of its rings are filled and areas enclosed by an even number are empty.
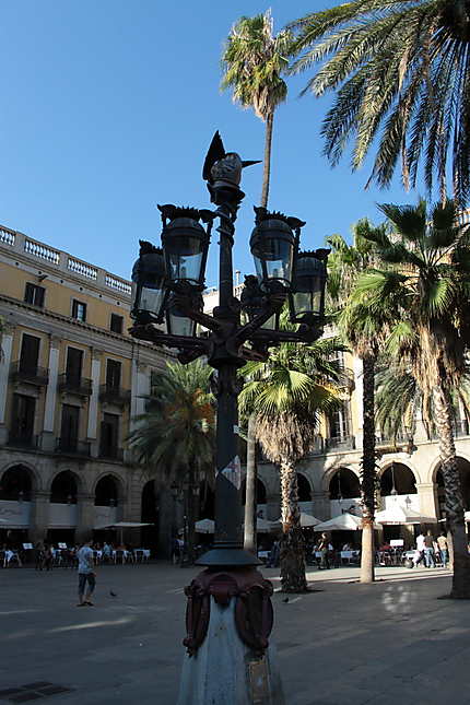
[[[361,460],[361,498],[363,531],[361,551],[361,583],[374,581],[374,515],[376,500],[375,457],[375,366],[384,337],[384,312],[371,315],[352,293],[361,271],[374,261],[374,245],[367,235],[380,237],[384,226],[374,227],[366,219],[353,226],[353,245],[340,235],[327,237],[332,252],[328,258],[328,297],[331,308],[338,312],[337,322],[344,340],[363,365],[363,455]]]

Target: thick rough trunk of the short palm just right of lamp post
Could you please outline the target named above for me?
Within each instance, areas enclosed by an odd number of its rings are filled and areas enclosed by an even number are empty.
[[[281,463],[282,539],[280,544],[283,592],[305,592],[305,544],[301,529],[297,473],[292,462]]]

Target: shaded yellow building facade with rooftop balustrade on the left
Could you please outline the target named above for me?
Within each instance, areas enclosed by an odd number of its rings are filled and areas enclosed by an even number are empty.
[[[126,437],[169,353],[127,332],[130,282],[7,227],[0,282],[0,542],[157,521]]]

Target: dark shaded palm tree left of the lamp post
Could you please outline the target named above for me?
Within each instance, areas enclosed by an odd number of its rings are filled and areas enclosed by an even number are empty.
[[[186,490],[187,555],[193,561],[196,487],[213,475],[214,408],[212,371],[201,361],[167,363],[153,376],[146,413],[136,418],[128,443],[137,460],[152,467],[157,482],[176,481]]]

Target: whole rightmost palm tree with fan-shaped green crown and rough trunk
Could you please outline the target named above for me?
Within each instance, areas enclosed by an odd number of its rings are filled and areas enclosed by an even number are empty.
[[[466,372],[470,343],[470,228],[458,224],[454,201],[383,204],[393,235],[369,234],[384,267],[360,278],[356,301],[371,316],[393,316],[387,352],[409,371],[433,406],[439,438],[446,518],[454,542],[451,597],[470,597],[470,556],[453,433],[451,391]]]

